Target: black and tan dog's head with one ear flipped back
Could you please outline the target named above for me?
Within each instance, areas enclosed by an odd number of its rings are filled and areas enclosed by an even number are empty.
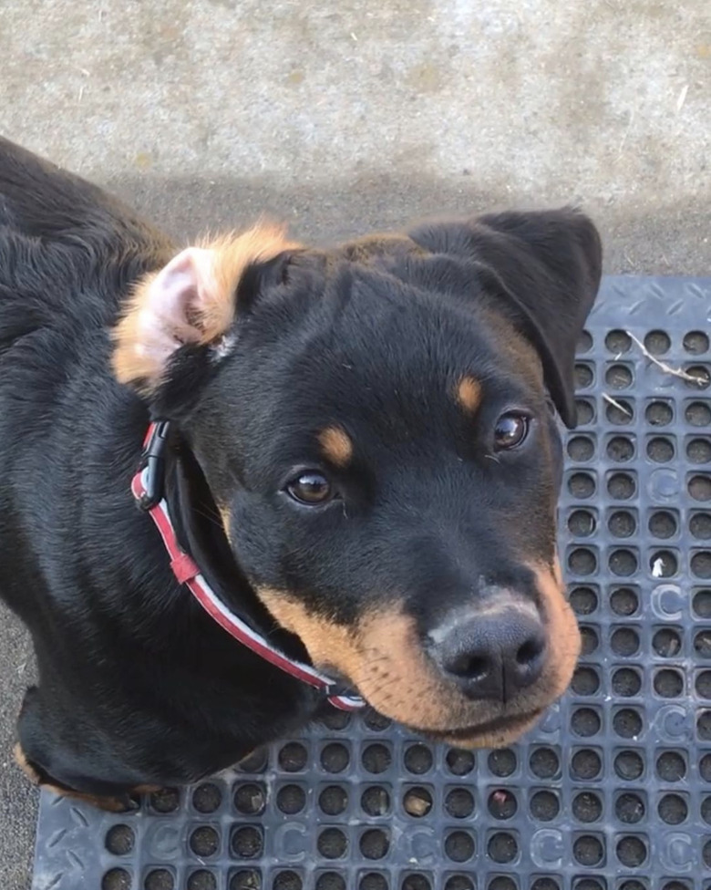
[[[114,368],[177,421],[256,595],[315,665],[413,729],[500,745],[578,656],[555,409],[574,425],[600,270],[570,210],[330,250],[257,227],[140,282]]]

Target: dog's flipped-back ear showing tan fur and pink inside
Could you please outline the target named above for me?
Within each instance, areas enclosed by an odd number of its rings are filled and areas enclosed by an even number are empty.
[[[181,347],[214,347],[219,357],[248,270],[295,246],[283,228],[259,225],[188,247],[139,281],[113,331],[116,378],[150,396]]]

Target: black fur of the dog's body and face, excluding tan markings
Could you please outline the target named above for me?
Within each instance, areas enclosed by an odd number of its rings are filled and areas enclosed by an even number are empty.
[[[180,537],[242,615],[295,657],[255,585],[356,622],[405,599],[424,633],[470,578],[526,587],[550,560],[572,357],[600,276],[572,211],[421,226],[412,244],[294,251],[242,280],[232,353],[180,350],[149,403],[109,369],[139,276],[175,253],[93,186],[0,141],[0,595],[29,627],[39,686],[19,737],[67,788],[124,793],[227,767],[322,707],[232,641],[176,584],[129,484],[150,412],[174,421],[168,499]],[[404,239],[407,241],[407,239]],[[355,259],[353,257],[356,257]],[[485,381],[476,422],[449,398]],[[535,429],[486,460],[500,413]],[[282,493],[337,422],[345,500]],[[215,499],[228,503],[232,548]],[[433,596],[432,592],[437,591]]]

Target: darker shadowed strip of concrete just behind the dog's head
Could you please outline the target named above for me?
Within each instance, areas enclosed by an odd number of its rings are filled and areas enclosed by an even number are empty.
[[[620,198],[584,201],[556,193],[502,195],[475,177],[451,181],[364,174],[354,181],[294,182],[284,189],[268,179],[194,180],[146,174],[105,181],[153,223],[183,240],[206,230],[252,223],[266,213],[290,223],[295,235],[330,242],[373,230],[398,229],[414,220],[478,214],[502,208],[579,203],[603,233],[608,274],[709,274],[711,198],[650,209]]]

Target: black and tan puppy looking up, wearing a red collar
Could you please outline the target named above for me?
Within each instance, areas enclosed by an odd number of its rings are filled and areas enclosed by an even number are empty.
[[[462,746],[528,730],[578,655],[555,410],[572,426],[600,269],[571,210],[180,252],[0,142],[0,594],[38,661],[26,771],[120,808],[329,697],[356,707],[346,690]]]

